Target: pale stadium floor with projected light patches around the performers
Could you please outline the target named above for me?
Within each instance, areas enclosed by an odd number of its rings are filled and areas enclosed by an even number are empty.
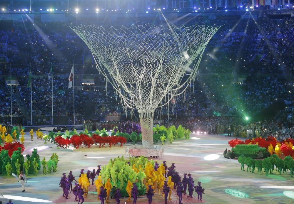
[[[48,132],[43,133],[48,134]],[[170,166],[174,162],[181,176],[183,173],[192,173],[195,184],[201,181],[205,189],[203,202],[196,199],[197,194],[194,192],[193,198],[183,196],[182,203],[293,203],[294,179],[290,177],[289,171],[282,176],[274,171],[274,174],[268,177],[265,176],[265,173],[260,175],[241,171],[237,159],[223,157],[224,149],[230,148],[229,139],[232,137],[191,134],[189,140],[176,140],[173,144],[163,146],[164,156],[157,159],[158,163],[166,160],[167,165]],[[60,160],[57,172],[47,173],[45,176],[42,175],[42,171],[39,171],[38,176],[28,176],[25,193],[21,192],[21,184],[17,183],[16,177],[0,176],[0,194],[5,195],[5,203],[11,196],[21,196],[12,197],[14,204],[44,203],[46,201],[58,204],[75,203],[72,193],[66,200],[62,197],[62,189],[58,188],[62,173],[65,172],[68,175],[71,170],[77,179],[82,168],[93,170],[98,164],[101,166],[107,164],[110,158],[125,155],[125,147],[128,145],[112,146],[111,148],[93,146],[90,149],[57,149],[55,144],[44,145],[44,141],[36,139],[36,136],[34,136],[34,141],[30,141],[28,133],[25,135],[25,140],[24,155],[31,153],[34,147],[38,147],[40,159],[46,157],[48,160],[53,152],[57,153]],[[85,198],[84,203],[100,203],[97,197],[95,185],[90,186],[88,198]],[[43,202],[36,202],[38,200],[34,198],[43,199]],[[173,190],[171,198],[172,200],[168,203],[178,203],[176,190]],[[124,203],[125,200],[126,198],[121,198],[121,203]],[[110,199],[110,202],[116,203],[113,199]],[[146,196],[141,196],[137,203],[148,203],[148,199]],[[164,199],[156,193],[152,203],[164,203]]]

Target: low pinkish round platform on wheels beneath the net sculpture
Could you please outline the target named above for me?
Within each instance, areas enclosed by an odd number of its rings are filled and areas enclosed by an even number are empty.
[[[154,149],[144,149],[143,145],[132,145],[126,147],[126,156],[153,156],[158,158],[163,156],[163,148],[158,145],[154,145]]]

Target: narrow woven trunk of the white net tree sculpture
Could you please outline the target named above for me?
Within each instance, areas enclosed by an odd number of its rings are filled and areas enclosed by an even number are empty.
[[[138,110],[141,131],[142,131],[142,144],[144,149],[154,149],[153,146],[153,110]]]

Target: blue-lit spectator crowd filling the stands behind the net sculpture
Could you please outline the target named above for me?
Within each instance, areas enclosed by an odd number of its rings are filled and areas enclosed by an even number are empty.
[[[194,23],[197,19],[201,20],[196,18]],[[294,61],[291,60],[294,57],[294,44],[290,41],[294,38],[293,18],[246,18],[232,21],[224,17],[210,20],[207,24],[223,26],[208,43],[193,90],[172,100],[168,110],[162,109],[163,114],[168,111],[170,115],[186,115],[197,119],[171,120],[171,124],[184,123],[193,129],[205,129],[210,123],[218,133],[225,133],[227,127],[233,125],[236,132],[243,132],[247,127],[240,119],[212,118],[206,121],[201,118],[212,117],[213,114],[236,118],[245,113],[254,115],[276,101],[286,104],[294,101]],[[9,63],[12,64],[12,75],[17,79],[17,88],[14,87],[17,93],[14,92],[12,100],[15,116],[23,116],[31,108],[30,87],[27,88],[30,71],[34,75],[33,114],[51,116],[51,63],[55,116],[71,117],[73,114],[73,89],[68,89],[72,63],[76,64],[77,116],[85,116],[89,112],[94,115],[93,118],[125,114],[113,88],[101,86],[105,85],[103,77],[93,66],[83,64],[82,56],[90,54],[89,50],[67,25],[71,23],[35,24],[26,19],[24,22],[14,22],[11,28],[0,31],[0,54],[8,59],[8,63],[0,63],[0,74],[3,76],[0,90],[2,117],[10,114],[10,88],[5,81],[5,75],[10,75]],[[95,75],[95,85],[98,86],[92,88],[81,85],[83,74],[88,73]],[[19,101],[16,99],[18,93]],[[21,106],[25,108],[21,109]],[[26,110],[26,113],[22,110]],[[293,106],[289,105],[279,116],[284,122],[293,122],[292,115]],[[263,124],[267,124],[261,127],[264,129],[273,126],[270,122]],[[284,127],[290,130],[291,126],[287,124]],[[289,130],[279,129],[276,132],[285,133]]]

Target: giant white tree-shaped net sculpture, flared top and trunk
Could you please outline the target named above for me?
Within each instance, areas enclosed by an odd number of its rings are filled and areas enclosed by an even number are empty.
[[[168,104],[195,79],[203,51],[219,27],[146,24],[119,29],[80,25],[72,29],[89,47],[97,69],[124,105],[137,109],[143,148],[153,149],[155,109]]]

